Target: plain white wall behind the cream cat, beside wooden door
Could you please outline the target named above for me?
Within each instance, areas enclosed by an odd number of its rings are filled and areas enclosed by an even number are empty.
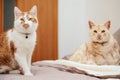
[[[88,20],[105,23],[111,20],[111,31],[120,28],[120,0],[59,0],[59,58],[73,53],[89,40]]]

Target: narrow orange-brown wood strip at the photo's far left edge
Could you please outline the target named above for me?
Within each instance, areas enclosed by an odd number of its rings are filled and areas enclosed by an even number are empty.
[[[0,0],[0,33],[3,31],[3,17],[4,17],[4,0]]]

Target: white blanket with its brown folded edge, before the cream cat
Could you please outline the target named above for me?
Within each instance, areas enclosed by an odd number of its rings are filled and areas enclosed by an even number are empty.
[[[80,64],[69,60],[55,60],[55,61],[49,60],[44,62],[69,66],[67,68],[64,68],[64,71],[67,72],[85,74],[100,79],[107,79],[107,78],[120,79],[120,66],[115,66],[115,65],[98,66],[98,65]]]

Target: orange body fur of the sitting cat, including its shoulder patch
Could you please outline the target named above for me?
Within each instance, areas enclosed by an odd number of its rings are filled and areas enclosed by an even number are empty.
[[[10,30],[12,31],[12,29]],[[0,34],[0,69],[4,68],[5,66],[8,67],[8,69],[2,72],[0,71],[0,73],[9,73],[10,70],[20,68],[14,59],[14,53],[16,52],[17,48],[14,46],[13,41],[10,41],[10,44],[8,43],[8,31],[9,30]]]

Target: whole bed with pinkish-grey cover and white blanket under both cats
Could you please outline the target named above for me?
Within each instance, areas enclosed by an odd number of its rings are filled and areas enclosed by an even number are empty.
[[[120,45],[120,29],[114,35]],[[33,76],[23,76],[15,70],[0,74],[0,80],[120,80],[120,66],[84,65],[68,58],[37,61],[32,63]]]

